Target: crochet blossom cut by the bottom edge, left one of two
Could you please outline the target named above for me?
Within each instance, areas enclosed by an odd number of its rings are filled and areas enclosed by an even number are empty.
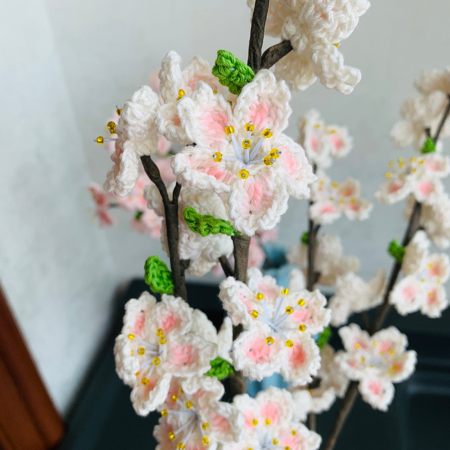
[[[224,387],[217,378],[172,378],[161,419],[153,435],[157,450],[215,450],[218,443],[238,442],[244,434],[243,414],[219,401]]]

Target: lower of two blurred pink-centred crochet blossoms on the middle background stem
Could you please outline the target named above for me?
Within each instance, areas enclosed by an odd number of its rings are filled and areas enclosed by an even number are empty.
[[[337,183],[324,172],[317,173],[319,181],[311,186],[313,205],[309,216],[316,224],[332,224],[342,214],[350,220],[366,220],[372,210],[372,203],[360,197],[360,182],[352,178]]]

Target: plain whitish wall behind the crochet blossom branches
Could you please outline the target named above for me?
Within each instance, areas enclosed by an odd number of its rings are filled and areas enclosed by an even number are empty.
[[[349,95],[318,82],[293,95],[289,131],[319,109],[347,125],[351,155],[333,168],[353,175],[372,198],[386,162],[408,156],[388,139],[401,102],[423,68],[449,63],[450,2],[375,0],[342,45],[363,79]],[[214,62],[217,49],[246,60],[250,13],[244,0],[18,0],[0,16],[0,277],[58,407],[67,411],[108,321],[117,284],[142,275],[156,241],[121,224],[90,223],[85,186],[103,183],[107,153],[93,143],[116,103],[146,82],[167,51]],[[273,43],[265,42],[265,47]],[[280,243],[306,228],[306,202],[292,201]],[[119,211],[120,212],[120,211]],[[376,205],[365,223],[341,220],[333,231],[369,277],[389,266],[386,243],[401,237],[400,208]]]

